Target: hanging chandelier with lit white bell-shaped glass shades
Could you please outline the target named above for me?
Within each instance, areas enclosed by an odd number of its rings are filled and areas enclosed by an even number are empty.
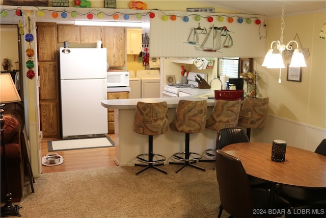
[[[267,68],[285,68],[282,53],[285,50],[292,50],[292,44],[296,44],[296,49],[293,51],[292,59],[289,67],[304,67],[306,65],[305,57],[302,50],[298,46],[295,40],[289,41],[286,45],[283,42],[283,31],[285,29],[284,21],[284,3],[282,3],[282,16],[281,16],[281,37],[278,41],[273,41],[270,43],[270,49],[267,51],[264,62],[262,66]],[[273,48],[274,45],[274,48]]]

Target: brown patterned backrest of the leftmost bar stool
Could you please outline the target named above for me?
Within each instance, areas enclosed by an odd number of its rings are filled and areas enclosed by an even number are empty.
[[[143,135],[160,135],[168,131],[167,102],[138,102],[133,122],[133,131]]]

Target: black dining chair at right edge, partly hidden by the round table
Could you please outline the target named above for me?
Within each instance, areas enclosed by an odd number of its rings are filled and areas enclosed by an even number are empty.
[[[323,139],[315,153],[326,156],[326,138]],[[287,199],[293,207],[323,207],[326,212],[326,188],[301,188],[279,185],[279,195]]]

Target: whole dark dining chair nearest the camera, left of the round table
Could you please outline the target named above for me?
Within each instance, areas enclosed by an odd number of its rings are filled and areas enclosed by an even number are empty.
[[[221,201],[219,218],[223,209],[233,217],[246,218],[257,217],[253,212],[255,210],[268,210],[268,190],[250,187],[248,175],[240,159],[216,150],[215,161]],[[288,208],[288,202],[280,197],[275,198],[275,203],[275,208]]]

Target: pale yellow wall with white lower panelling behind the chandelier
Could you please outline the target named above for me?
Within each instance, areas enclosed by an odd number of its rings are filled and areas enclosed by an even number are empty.
[[[314,151],[326,138],[326,40],[318,38],[326,12],[285,17],[284,41],[297,33],[303,47],[309,49],[307,67],[302,68],[302,82],[286,80],[286,70],[261,67],[263,58],[254,59],[260,73],[261,96],[269,97],[266,126],[253,130],[253,140],[270,142],[283,139],[291,146]],[[268,19],[266,51],[270,42],[280,38],[280,18]],[[296,39],[298,40],[298,39]],[[290,62],[285,59],[285,65]]]

